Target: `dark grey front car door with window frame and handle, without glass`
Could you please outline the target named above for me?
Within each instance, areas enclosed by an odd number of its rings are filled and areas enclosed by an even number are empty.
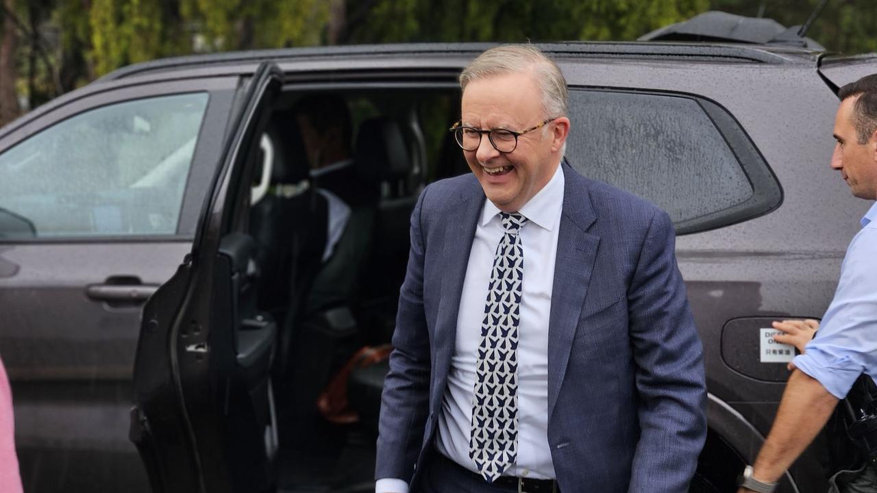
[[[225,132],[235,84],[236,79],[107,84],[53,103],[42,118],[23,118],[0,139],[6,150],[103,105],[210,91],[177,234],[0,240],[0,350],[16,396],[16,440],[28,491],[77,484],[146,489],[136,450],[126,438],[140,311],[191,250],[195,219],[209,189],[205,176],[213,175],[219,152],[211,143]]]

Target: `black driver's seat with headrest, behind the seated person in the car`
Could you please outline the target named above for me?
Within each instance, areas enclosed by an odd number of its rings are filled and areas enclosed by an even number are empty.
[[[332,257],[311,285],[308,315],[302,338],[296,343],[294,374],[308,374],[307,382],[296,383],[295,389],[296,401],[306,406],[299,415],[303,422],[316,417],[317,398],[332,375],[357,349],[374,339],[374,318],[364,317],[362,308],[365,299],[373,295],[369,290],[382,276],[380,269],[370,269],[375,242],[386,247],[381,233],[375,234],[377,217],[385,212],[381,211],[381,205],[386,204],[380,197],[380,185],[403,179],[410,169],[403,135],[395,121],[373,118],[360,125],[354,168],[356,182],[347,184],[359,189],[355,195],[346,195],[357,199],[350,204],[351,216]],[[405,207],[413,207],[413,203]],[[410,211],[404,211],[403,256],[407,256],[409,214]],[[366,276],[367,272],[374,274]],[[395,311],[395,307],[389,311]],[[346,389],[343,392],[346,394]],[[360,394],[363,392],[358,392],[357,397]],[[364,416],[371,420],[368,411]]]

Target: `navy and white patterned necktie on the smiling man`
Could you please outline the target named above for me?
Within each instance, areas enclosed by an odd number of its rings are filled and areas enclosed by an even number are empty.
[[[524,249],[517,232],[527,218],[505,212],[500,216],[505,234],[496,247],[481,322],[469,437],[469,457],[488,482],[517,459],[517,325],[524,280]]]

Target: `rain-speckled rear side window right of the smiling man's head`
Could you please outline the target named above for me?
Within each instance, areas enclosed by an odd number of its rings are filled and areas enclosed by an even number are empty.
[[[570,91],[570,164],[657,204],[676,231],[759,216],[781,201],[766,162],[723,108],[695,96]]]

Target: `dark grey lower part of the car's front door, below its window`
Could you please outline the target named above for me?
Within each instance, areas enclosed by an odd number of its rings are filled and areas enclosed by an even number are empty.
[[[0,278],[0,348],[15,392],[16,445],[28,491],[91,484],[146,491],[126,439],[141,304],[111,306],[89,299],[85,289],[118,273],[158,286],[170,276],[172,259],[189,248],[188,242],[0,246],[0,264],[18,271]]]

